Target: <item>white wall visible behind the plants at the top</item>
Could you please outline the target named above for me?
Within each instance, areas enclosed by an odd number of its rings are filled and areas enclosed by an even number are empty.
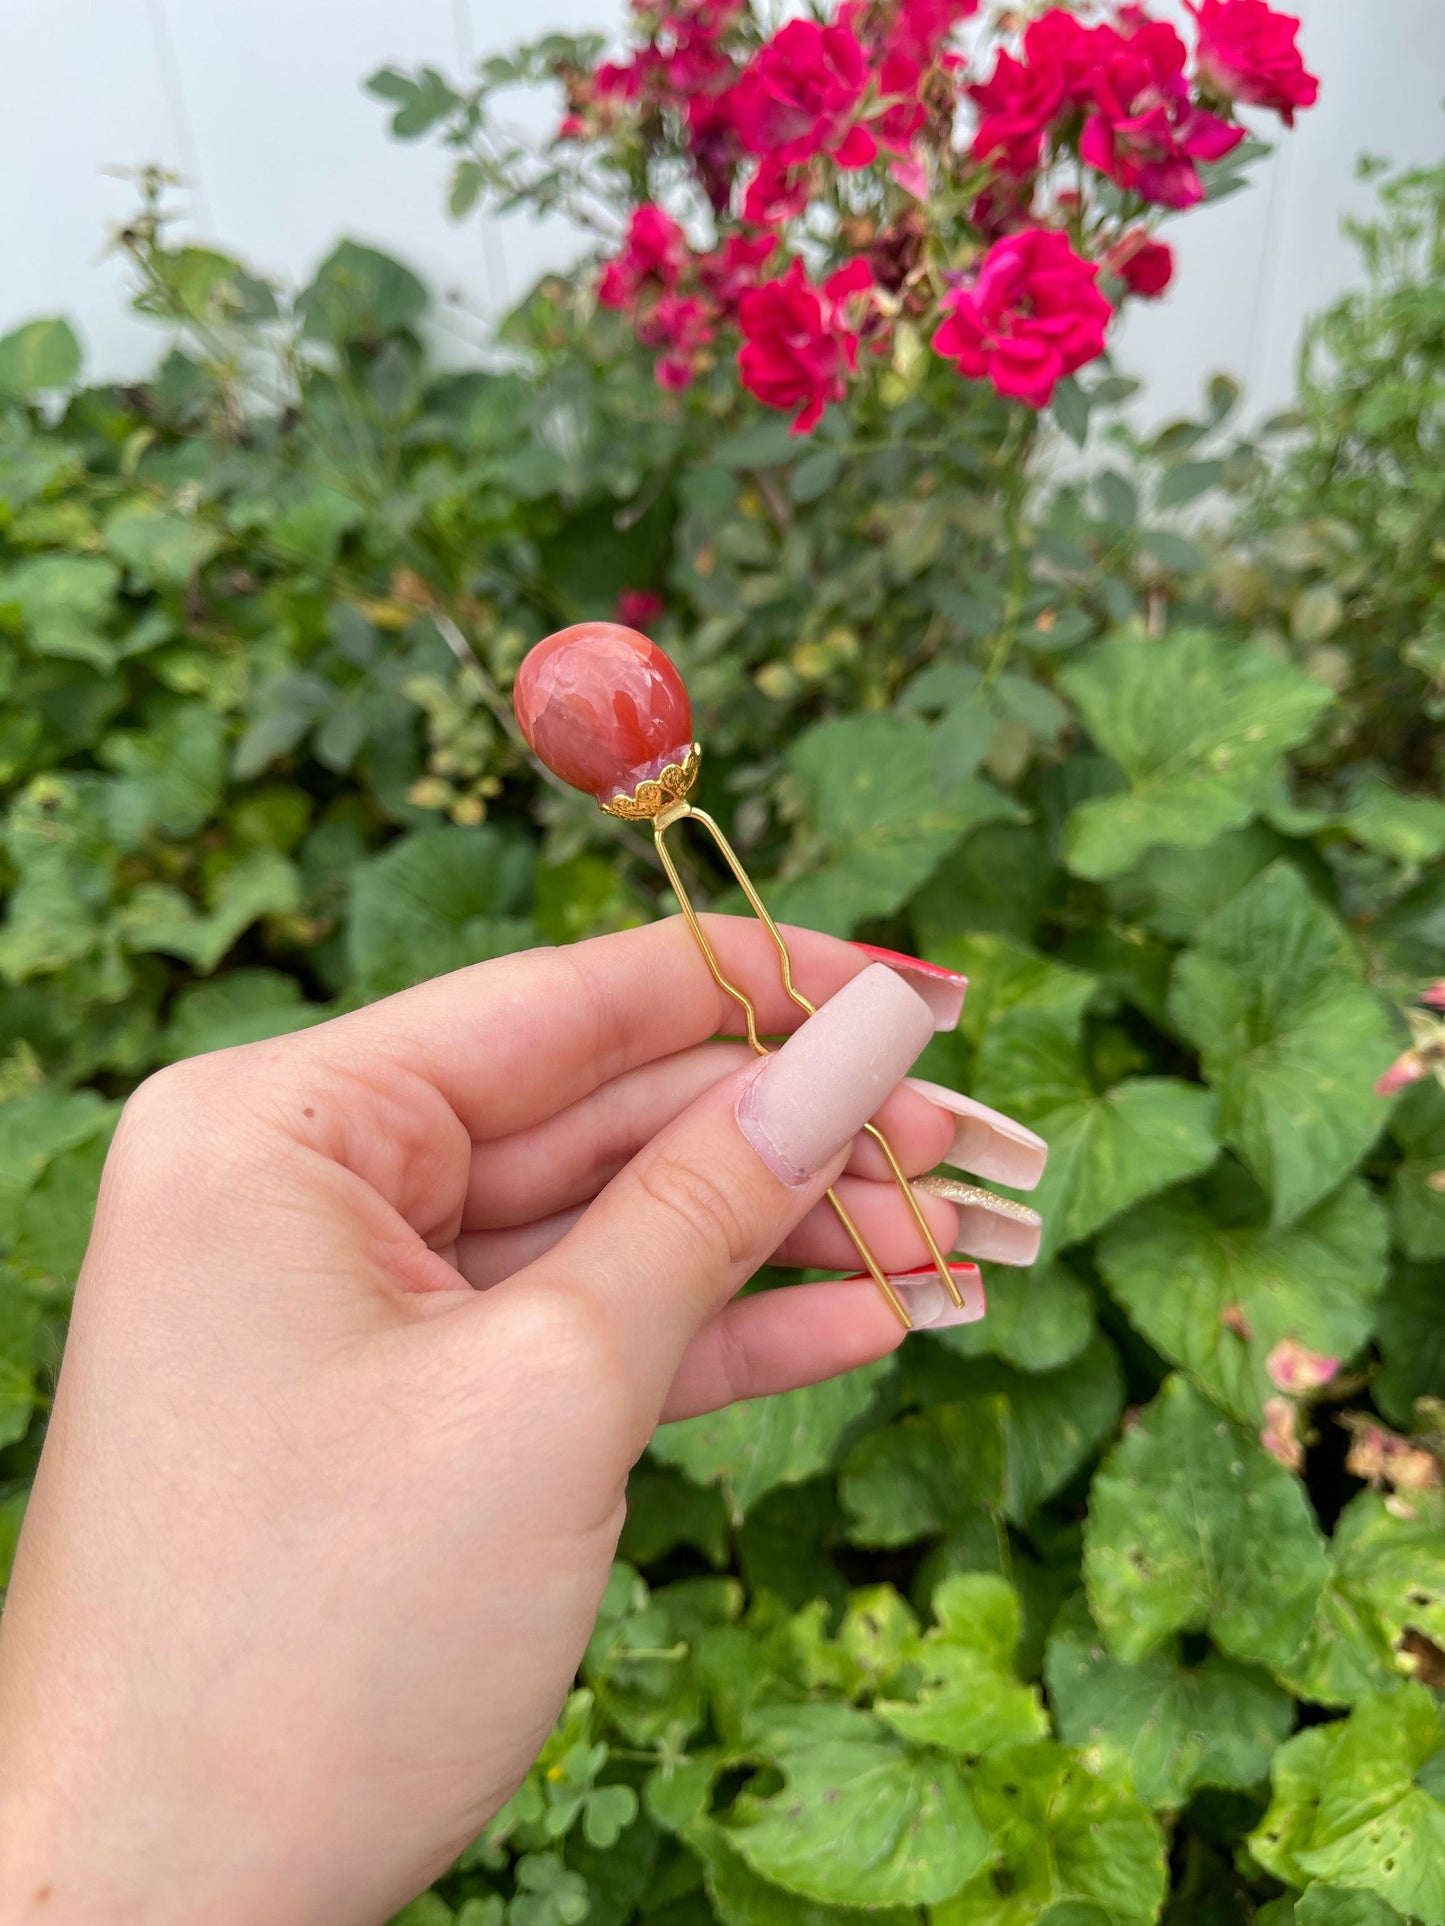
[[[1283,0],[1281,0],[1283,4]],[[1258,185],[1187,216],[1175,289],[1129,318],[1119,360],[1150,412],[1189,408],[1227,368],[1258,408],[1287,401],[1300,322],[1353,275],[1339,218],[1368,206],[1354,156],[1441,152],[1445,6],[1295,0],[1320,104],[1281,135]],[[459,300],[445,327],[474,341],[570,241],[441,212],[445,156],[385,137],[360,81],[385,62],[462,71],[476,52],[551,27],[611,29],[624,0],[0,0],[10,87],[0,117],[8,193],[0,329],[69,314],[91,368],[133,374],[156,335],[125,314],[108,231],[133,187],[106,169],[164,162],[187,177],[189,231],[266,273],[302,281],[339,233],[416,266]],[[33,75],[33,85],[25,77]],[[1274,125],[1270,117],[1268,125]]]

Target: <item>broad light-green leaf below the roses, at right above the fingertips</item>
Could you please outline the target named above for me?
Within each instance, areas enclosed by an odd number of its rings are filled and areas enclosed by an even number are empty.
[[[1129,778],[1125,795],[1069,817],[1069,869],[1092,878],[1123,874],[1152,844],[1200,847],[1248,822],[1331,701],[1312,676],[1206,630],[1116,636],[1060,686]]]

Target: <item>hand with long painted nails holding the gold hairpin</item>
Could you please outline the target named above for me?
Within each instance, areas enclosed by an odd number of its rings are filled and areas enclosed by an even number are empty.
[[[709,930],[794,1028],[765,932]],[[967,1146],[1037,1181],[1027,1131],[896,1088],[933,1028],[904,976],[792,942],[828,1002],[763,1063],[709,1042],[736,1007],[674,921],[137,1092],[0,1635],[8,1920],[383,1920],[536,1757],[659,1419],[898,1342],[867,1279],[734,1302],[769,1256],[854,1262],[844,1167],[882,1262],[921,1262],[861,1123],[911,1173]]]

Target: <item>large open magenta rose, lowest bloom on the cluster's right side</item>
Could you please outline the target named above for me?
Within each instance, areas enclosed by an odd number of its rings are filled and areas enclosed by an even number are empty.
[[[1114,308],[1096,283],[1096,264],[1067,235],[1027,227],[988,248],[971,285],[944,295],[933,347],[971,381],[1042,408],[1065,374],[1104,352]]]

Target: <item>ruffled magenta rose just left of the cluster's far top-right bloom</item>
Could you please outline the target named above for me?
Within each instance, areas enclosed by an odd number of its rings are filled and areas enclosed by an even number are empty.
[[[1191,102],[1185,42],[1173,27],[1137,8],[1125,8],[1123,21],[1123,33],[1096,33],[1079,154],[1116,187],[1166,208],[1193,208],[1204,198],[1195,162],[1220,160],[1245,129]]]

